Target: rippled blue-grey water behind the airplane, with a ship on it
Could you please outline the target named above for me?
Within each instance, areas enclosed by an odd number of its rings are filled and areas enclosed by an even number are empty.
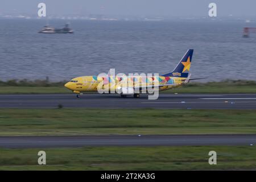
[[[73,20],[75,34],[38,34],[43,20],[0,20],[0,80],[52,81],[116,73],[168,73],[195,49],[191,73],[205,81],[256,80],[256,35],[242,22]],[[62,20],[51,20],[62,27]]]

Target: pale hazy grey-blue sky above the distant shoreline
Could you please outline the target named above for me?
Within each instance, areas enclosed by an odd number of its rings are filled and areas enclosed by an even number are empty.
[[[46,3],[47,15],[207,16],[215,2],[217,16],[256,16],[255,0],[0,0],[0,14],[36,15],[39,2]]]

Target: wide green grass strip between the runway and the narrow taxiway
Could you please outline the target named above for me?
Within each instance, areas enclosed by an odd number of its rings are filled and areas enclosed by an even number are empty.
[[[0,109],[0,135],[255,134],[255,110]]]

